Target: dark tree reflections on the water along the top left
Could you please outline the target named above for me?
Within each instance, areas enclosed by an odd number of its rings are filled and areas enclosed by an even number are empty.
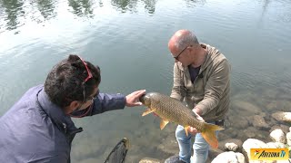
[[[121,13],[137,12],[137,5],[143,4],[148,14],[154,14],[157,0],[111,0],[111,5]],[[93,0],[67,0],[68,10],[80,17],[94,18],[94,10],[104,6],[104,1]],[[0,33],[4,30],[15,30],[24,25],[29,19],[36,23],[43,23],[45,20],[54,18],[56,6],[64,4],[55,0],[2,0],[0,1],[1,19],[5,21],[0,24]],[[41,14],[42,17],[38,16]],[[5,28],[5,29],[4,29]],[[17,34],[17,33],[16,33]]]

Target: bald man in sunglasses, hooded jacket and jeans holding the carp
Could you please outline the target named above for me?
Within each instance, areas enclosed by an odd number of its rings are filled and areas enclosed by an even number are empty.
[[[200,120],[224,126],[229,108],[230,64],[215,47],[199,43],[189,30],[177,31],[168,42],[174,64],[174,85],[171,97],[186,101],[189,109],[198,114]],[[201,117],[200,117],[201,116]],[[176,128],[179,155],[166,159],[166,163],[204,163],[209,145],[195,128],[186,136],[183,126]],[[218,131],[216,131],[216,136]],[[191,138],[194,154],[191,158]]]

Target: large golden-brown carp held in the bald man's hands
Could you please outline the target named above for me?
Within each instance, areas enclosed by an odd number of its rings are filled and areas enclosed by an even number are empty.
[[[196,128],[201,132],[204,139],[212,147],[218,148],[218,140],[216,139],[216,130],[223,129],[220,126],[209,124],[201,120],[197,120],[196,113],[188,109],[181,101],[177,101],[169,96],[158,92],[149,92],[141,96],[141,101],[148,109],[143,113],[143,116],[155,112],[161,118],[160,128],[164,129],[166,124],[176,122],[183,126],[188,135],[189,127]]]

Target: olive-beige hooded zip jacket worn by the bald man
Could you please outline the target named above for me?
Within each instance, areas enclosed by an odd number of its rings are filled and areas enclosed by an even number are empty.
[[[187,66],[181,62],[174,65],[174,85],[171,97],[186,101],[188,108],[202,110],[206,121],[224,120],[229,108],[230,64],[215,47],[201,44],[207,50],[196,80],[191,82]]]

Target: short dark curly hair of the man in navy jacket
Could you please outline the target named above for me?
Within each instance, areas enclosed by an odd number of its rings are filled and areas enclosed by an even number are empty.
[[[75,54],[70,54],[67,59],[58,62],[48,73],[45,80],[45,92],[59,107],[65,108],[72,101],[85,101],[101,82],[100,68],[91,62],[85,63],[93,76],[85,83],[83,82],[88,72],[82,59]]]

